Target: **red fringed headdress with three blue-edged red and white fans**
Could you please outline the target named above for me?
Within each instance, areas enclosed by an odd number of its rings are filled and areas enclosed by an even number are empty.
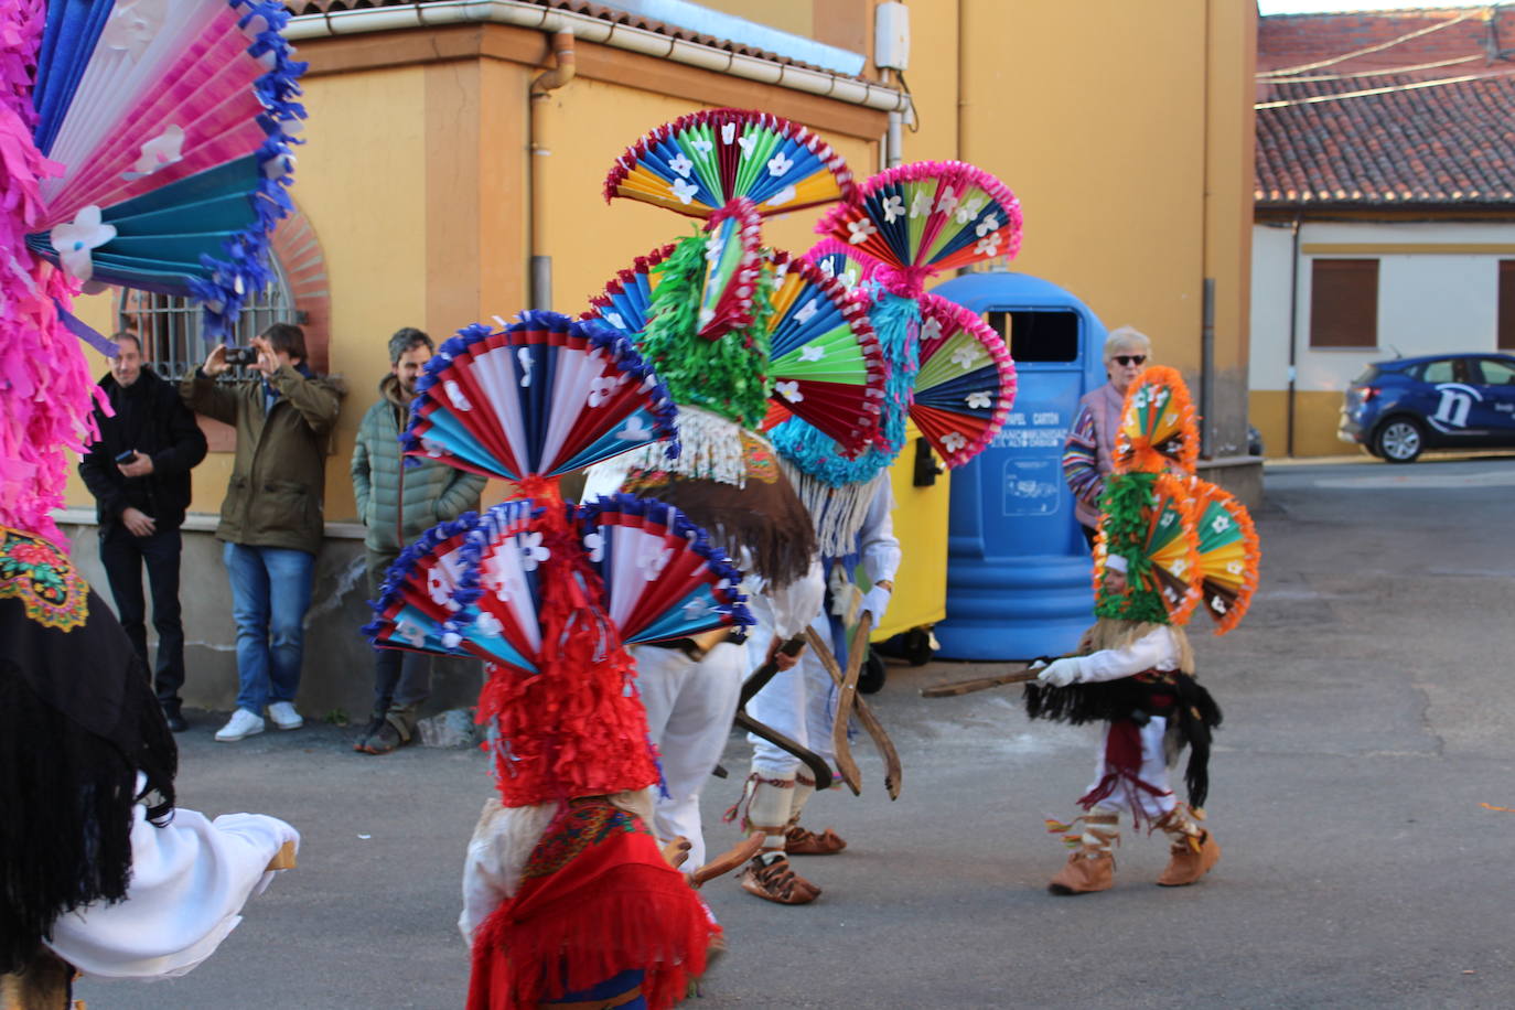
[[[527,312],[447,341],[417,383],[411,456],[504,477],[521,498],[438,525],[386,575],[380,647],[489,663],[506,806],[658,780],[624,645],[750,622],[739,572],[676,509],[565,503],[556,475],[673,435],[667,389],[621,335]]]

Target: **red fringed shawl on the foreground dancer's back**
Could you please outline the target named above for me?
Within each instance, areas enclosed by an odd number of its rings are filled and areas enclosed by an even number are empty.
[[[468,1010],[535,1010],[629,969],[645,972],[642,996],[662,1010],[704,972],[720,931],[641,819],[601,796],[573,800],[474,937]]]

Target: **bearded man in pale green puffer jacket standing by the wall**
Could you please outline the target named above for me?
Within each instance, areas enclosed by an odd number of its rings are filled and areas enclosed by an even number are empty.
[[[432,357],[432,338],[405,327],[389,338],[389,374],[368,407],[353,445],[353,497],[368,527],[368,592],[379,598],[385,571],[405,547],[438,522],[479,507],[485,479],[433,460],[406,466],[400,432],[415,398],[415,380]],[[401,501],[403,491],[403,501]],[[415,716],[432,692],[432,660],[420,653],[374,650],[374,713],[353,750],[388,754],[415,736]]]

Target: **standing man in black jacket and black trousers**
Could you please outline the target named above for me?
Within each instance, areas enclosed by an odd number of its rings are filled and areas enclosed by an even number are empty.
[[[142,563],[153,591],[158,666],[153,687],[168,725],[188,728],[180,713],[185,630],[179,616],[179,527],[189,507],[189,471],[205,459],[205,433],[179,389],[142,368],[142,344],[130,330],[115,335],[118,353],[100,389],[115,416],[95,407],[100,441],[79,463],[100,519],[100,562],[121,627],[147,666],[147,609]]]

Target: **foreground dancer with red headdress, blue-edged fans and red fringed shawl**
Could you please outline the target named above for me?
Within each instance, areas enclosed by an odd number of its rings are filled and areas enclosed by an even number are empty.
[[[470,1010],[668,1007],[720,927],[651,833],[659,781],[630,642],[748,622],[739,572],[667,504],[574,506],[558,477],[632,447],[676,451],[667,389],[597,323],[521,313],[447,341],[417,385],[408,456],[509,480],[391,566],[374,645],[483,659],[497,800],[464,869]]]

